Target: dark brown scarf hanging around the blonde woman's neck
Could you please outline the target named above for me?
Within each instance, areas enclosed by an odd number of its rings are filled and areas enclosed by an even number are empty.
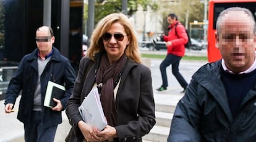
[[[127,58],[123,54],[116,63],[110,65],[105,53],[101,58],[100,67],[96,74],[96,84],[102,84],[99,88],[101,105],[108,120],[108,125],[113,127],[118,124],[117,109],[114,101],[114,82],[119,81],[126,60]]]

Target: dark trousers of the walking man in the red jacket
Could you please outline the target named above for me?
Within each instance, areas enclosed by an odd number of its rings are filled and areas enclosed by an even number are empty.
[[[179,73],[179,61],[181,61],[182,57],[168,54],[160,64],[160,71],[162,76],[163,87],[168,87],[168,79],[166,74],[166,68],[171,65],[171,71],[173,72],[173,75],[176,77],[177,81],[183,87],[184,89],[187,88],[187,81],[184,79],[184,77]]]

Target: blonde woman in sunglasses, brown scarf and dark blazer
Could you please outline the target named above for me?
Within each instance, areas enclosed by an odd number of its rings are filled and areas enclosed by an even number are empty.
[[[110,14],[96,25],[67,103],[69,141],[142,141],[155,125],[151,72],[141,64],[133,29],[124,14]],[[102,131],[86,124],[78,111],[95,86],[108,121]]]

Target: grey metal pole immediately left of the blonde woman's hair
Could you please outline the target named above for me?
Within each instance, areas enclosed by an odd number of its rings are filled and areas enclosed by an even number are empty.
[[[90,38],[92,36],[93,28],[94,28],[94,0],[88,0],[88,20],[87,20],[87,36],[88,42],[87,46],[90,47]]]

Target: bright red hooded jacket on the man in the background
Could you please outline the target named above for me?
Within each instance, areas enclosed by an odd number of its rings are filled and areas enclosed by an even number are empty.
[[[177,28],[175,28],[176,23],[178,23]],[[184,44],[186,44],[188,41],[186,29],[178,21],[174,22],[172,25],[169,25],[168,28],[168,36],[163,36],[164,41],[171,41],[172,44],[167,47],[167,53],[183,57],[185,55]],[[179,36],[176,35],[175,29],[177,30],[177,34]]]

